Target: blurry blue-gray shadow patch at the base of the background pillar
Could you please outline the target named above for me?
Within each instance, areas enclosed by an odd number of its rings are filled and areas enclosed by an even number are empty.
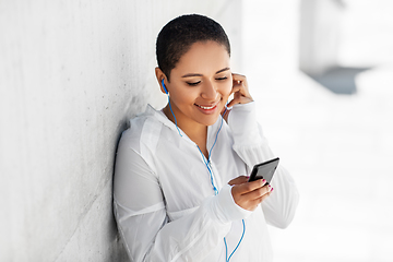
[[[334,67],[319,75],[306,74],[334,94],[353,95],[357,93],[356,75],[370,69]]]

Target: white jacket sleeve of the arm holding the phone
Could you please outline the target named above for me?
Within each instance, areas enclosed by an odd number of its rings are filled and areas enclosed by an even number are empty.
[[[122,138],[115,166],[114,210],[131,261],[203,259],[223,241],[233,221],[249,215],[236,205],[230,189],[225,186],[192,213],[169,223],[156,174]]]

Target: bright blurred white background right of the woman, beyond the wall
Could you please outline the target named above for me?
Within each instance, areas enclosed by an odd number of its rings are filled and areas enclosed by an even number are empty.
[[[393,261],[393,2],[262,2],[245,1],[243,68],[300,190],[275,261]]]

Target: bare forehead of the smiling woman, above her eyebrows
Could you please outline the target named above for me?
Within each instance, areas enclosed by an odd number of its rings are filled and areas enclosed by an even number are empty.
[[[198,41],[180,57],[171,75],[182,73],[211,74],[230,68],[230,57],[225,46],[216,41]]]

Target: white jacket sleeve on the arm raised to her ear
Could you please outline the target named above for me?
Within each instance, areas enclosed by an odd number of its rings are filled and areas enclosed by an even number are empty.
[[[234,151],[251,170],[255,164],[276,157],[257,122],[255,103],[235,105],[228,124],[234,135]],[[246,128],[245,128],[246,127]],[[289,172],[279,164],[272,180],[273,193],[261,204],[270,225],[285,228],[294,218],[299,193]]]

